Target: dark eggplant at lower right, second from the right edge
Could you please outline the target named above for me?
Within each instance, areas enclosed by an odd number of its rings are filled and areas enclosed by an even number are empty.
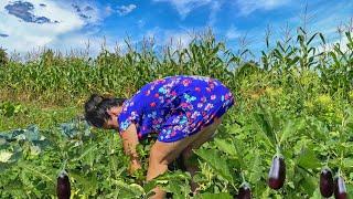
[[[320,174],[320,192],[321,196],[329,198],[333,195],[334,184],[332,170],[329,167],[321,169]]]

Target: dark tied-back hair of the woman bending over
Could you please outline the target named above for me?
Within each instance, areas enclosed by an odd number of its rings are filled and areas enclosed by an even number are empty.
[[[110,118],[107,109],[121,106],[126,98],[105,97],[97,94],[90,95],[85,103],[85,119],[93,126],[101,128],[104,123]]]

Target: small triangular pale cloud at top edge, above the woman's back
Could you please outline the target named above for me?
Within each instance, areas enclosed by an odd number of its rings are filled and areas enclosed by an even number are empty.
[[[153,0],[154,2],[169,2],[178,10],[184,19],[192,10],[208,4],[212,0]]]

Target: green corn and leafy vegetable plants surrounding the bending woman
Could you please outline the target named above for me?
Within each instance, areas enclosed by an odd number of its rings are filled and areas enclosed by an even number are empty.
[[[93,130],[81,119],[63,123],[65,114],[77,115],[92,92],[130,97],[147,82],[174,74],[216,77],[236,96],[216,138],[195,150],[200,171],[193,180],[200,195],[194,198],[234,198],[244,181],[254,198],[320,198],[323,166],[340,170],[352,195],[352,33],[345,33],[344,46],[336,43],[327,51],[313,46],[325,44],[322,34],[309,35],[303,29],[297,34],[272,48],[267,41],[260,63],[243,59],[248,50],[231,53],[211,33],[185,49],[167,46],[162,54],[152,45],[137,50],[127,42],[126,52],[103,49],[96,59],[45,50],[38,60],[9,62],[0,67],[3,96],[25,94],[29,100],[78,105],[39,113],[10,100],[0,103],[1,123],[29,115],[45,126],[0,133],[0,198],[54,198],[63,168],[74,198],[148,198],[156,186],[173,198],[191,198],[191,176],[176,164],[174,171],[145,182],[150,139],[138,147],[142,169],[130,176],[119,135]],[[287,175],[284,188],[274,191],[267,175],[279,149]]]

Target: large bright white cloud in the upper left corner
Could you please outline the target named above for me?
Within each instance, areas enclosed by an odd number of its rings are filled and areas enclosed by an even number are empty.
[[[89,18],[83,18],[73,9],[71,3],[62,3],[51,0],[26,0],[34,6],[33,14],[43,15],[51,19],[51,21],[58,21],[58,23],[29,23],[23,20],[9,14],[4,7],[10,0],[0,1],[0,32],[9,36],[0,39],[0,45],[11,51],[25,53],[38,48],[43,46],[62,46],[67,49],[75,46],[73,40],[58,41],[61,36],[78,35],[79,31],[87,24],[99,23],[100,18],[97,9],[86,9],[84,14],[89,14]],[[44,3],[45,7],[40,4]],[[81,2],[85,8],[85,3]],[[90,6],[93,8],[93,6]],[[82,12],[83,13],[83,12]],[[87,15],[86,15],[87,17]],[[87,34],[83,35],[87,36]],[[67,43],[66,43],[67,42]],[[55,46],[56,48],[56,46]]]

